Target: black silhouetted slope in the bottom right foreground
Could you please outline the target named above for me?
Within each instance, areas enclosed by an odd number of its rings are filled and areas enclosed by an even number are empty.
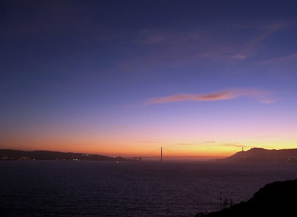
[[[297,179],[266,184],[247,202],[196,217],[294,217],[297,215]]]

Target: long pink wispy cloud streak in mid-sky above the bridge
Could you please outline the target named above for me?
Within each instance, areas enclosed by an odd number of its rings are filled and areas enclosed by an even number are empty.
[[[261,103],[274,103],[271,99],[270,92],[259,89],[229,89],[211,94],[177,94],[167,97],[151,98],[146,100],[143,104],[135,107],[143,107],[154,104],[167,104],[180,101],[218,101],[231,100],[240,97],[255,98]]]

